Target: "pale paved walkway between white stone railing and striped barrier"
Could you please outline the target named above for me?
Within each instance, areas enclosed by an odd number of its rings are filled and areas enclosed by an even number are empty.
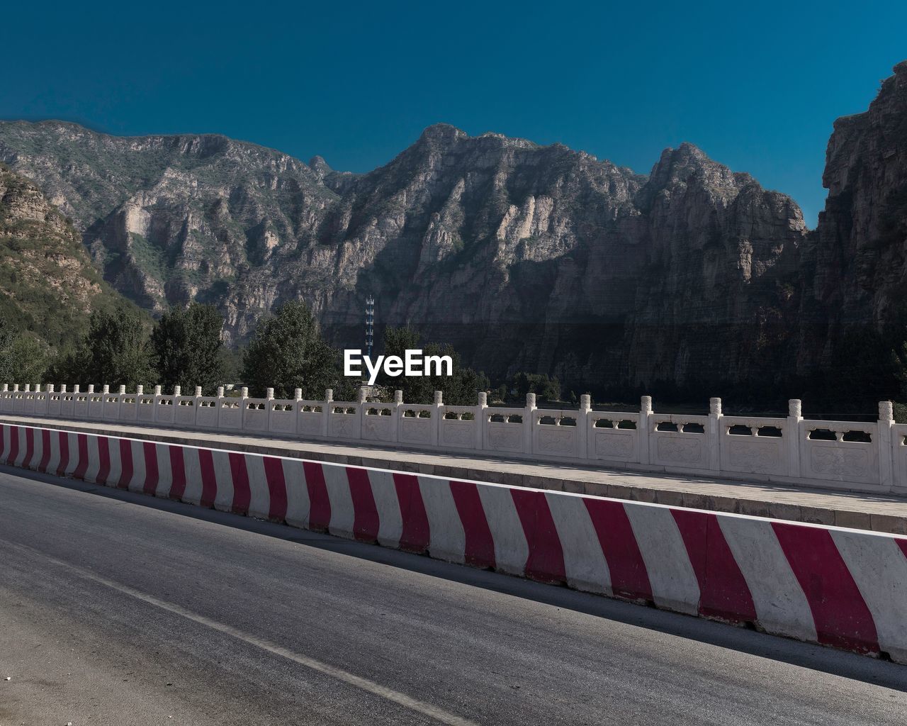
[[[907,497],[411,449],[5,415],[0,423],[293,456],[907,535]]]

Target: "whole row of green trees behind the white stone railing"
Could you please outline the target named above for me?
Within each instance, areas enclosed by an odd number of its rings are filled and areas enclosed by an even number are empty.
[[[201,386],[205,395],[221,385],[241,382],[255,397],[274,388],[275,397],[288,398],[301,388],[303,397],[320,399],[326,388],[334,388],[336,400],[355,399],[360,381],[344,378],[341,351],[322,338],[317,319],[304,303],[288,302],[273,316],[261,319],[239,365],[223,345],[223,323],[216,308],[199,303],[171,309],[153,324],[135,309],[99,310],[83,338],[55,355],[40,340],[0,327],[0,380],[123,385],[128,390],[160,384],[165,391],[180,386],[187,392]],[[490,391],[488,378],[463,366],[449,344],[423,344],[419,333],[408,327],[385,329],[385,355],[404,358],[407,348],[450,356],[453,375],[406,378],[382,373],[375,397],[389,398],[401,389],[405,401],[430,403],[434,391],[443,390],[446,403],[471,406],[478,391]],[[493,399],[507,400],[524,397],[531,390],[542,399],[560,395],[557,379],[526,374],[491,393]]]

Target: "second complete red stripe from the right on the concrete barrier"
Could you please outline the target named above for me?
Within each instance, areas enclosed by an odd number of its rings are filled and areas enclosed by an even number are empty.
[[[699,584],[699,613],[731,623],[756,621],[756,605],[716,515],[672,509]]]

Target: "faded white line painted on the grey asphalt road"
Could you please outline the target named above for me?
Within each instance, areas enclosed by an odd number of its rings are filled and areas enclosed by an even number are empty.
[[[165,610],[168,613],[180,615],[181,617],[184,617],[187,620],[192,621],[193,623],[205,625],[211,630],[217,631],[218,633],[224,633],[233,638],[236,638],[239,641],[242,641],[243,643],[254,645],[255,647],[260,648],[263,651],[273,653],[274,655],[279,655],[282,658],[286,658],[288,661],[298,663],[299,665],[310,668],[313,671],[324,673],[331,678],[336,678],[337,681],[342,681],[348,683],[349,685],[356,686],[356,688],[362,689],[363,691],[374,693],[376,696],[380,696],[387,701],[393,701],[398,705],[405,706],[408,709],[422,713],[423,715],[428,716],[435,721],[447,723],[450,724],[450,726],[478,726],[478,724],[476,724],[474,721],[464,719],[463,717],[457,716],[453,713],[448,713],[443,709],[439,709],[436,706],[433,706],[431,703],[419,701],[418,699],[407,696],[405,693],[386,688],[380,683],[369,681],[367,678],[358,676],[355,673],[344,671],[342,668],[337,668],[334,665],[329,665],[327,663],[317,661],[314,658],[309,658],[307,655],[299,655],[298,653],[292,652],[287,648],[283,648],[276,643],[269,643],[262,638],[258,638],[255,635],[250,635],[249,633],[244,633],[241,630],[238,630],[237,628],[234,628],[230,625],[218,623],[216,620],[211,620],[204,615],[193,613],[192,611],[187,610],[184,607],[180,607],[180,605],[168,603],[165,600],[154,597],[153,595],[142,593],[141,591],[136,590],[129,585],[120,584],[112,580],[108,580],[106,577],[102,577],[99,574],[94,574],[91,570],[83,569],[78,565],[63,562],[62,560],[58,560],[50,556],[49,554],[39,552],[33,547],[29,547],[27,544],[18,544],[8,542],[7,540],[4,541],[16,549],[25,550],[26,552],[29,552],[31,554],[43,557],[51,564],[56,564],[60,567],[64,567],[75,574],[79,574],[87,580],[91,580],[95,583],[102,584],[105,587],[109,587],[112,590],[116,590],[119,593],[134,597],[136,600],[141,600],[143,603],[154,605],[155,607],[161,608],[161,610]]]

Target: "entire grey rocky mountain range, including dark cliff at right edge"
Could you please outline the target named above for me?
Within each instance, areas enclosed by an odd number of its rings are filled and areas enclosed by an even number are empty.
[[[229,341],[287,299],[338,344],[381,324],[452,342],[493,377],[569,387],[772,385],[827,365],[847,322],[897,314],[907,67],[839,120],[819,228],[696,147],[648,176],[444,124],[374,172],[213,135],[119,138],[0,123],[0,160],[73,218],[104,277],[152,311],[216,303]],[[792,373],[793,372],[793,373]]]

